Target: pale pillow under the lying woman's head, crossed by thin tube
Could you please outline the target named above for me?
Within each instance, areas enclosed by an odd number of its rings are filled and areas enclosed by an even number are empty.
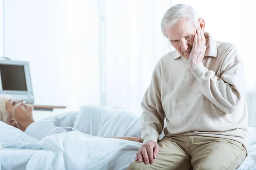
[[[13,127],[11,125],[8,125],[8,124],[0,121],[0,141],[1,141],[3,148],[20,148],[20,149],[35,149],[35,150],[41,149],[39,144],[23,144],[20,141],[18,141],[18,139],[16,137],[17,132],[18,132],[18,138],[22,142],[25,142],[25,143],[38,143],[39,142],[38,139],[28,136],[26,133],[19,130],[18,128]],[[3,144],[6,142],[11,142],[13,139],[15,139],[15,140],[12,143]]]

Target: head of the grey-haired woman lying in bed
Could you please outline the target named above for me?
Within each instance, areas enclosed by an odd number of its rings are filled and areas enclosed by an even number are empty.
[[[24,103],[18,105],[21,102],[23,102],[23,100],[14,100],[9,95],[0,95],[0,120],[8,125],[19,127],[20,130],[25,131],[28,125],[35,122],[32,115],[34,108],[31,105],[26,105]],[[16,105],[17,107],[15,108]],[[15,122],[15,119],[17,123]]]

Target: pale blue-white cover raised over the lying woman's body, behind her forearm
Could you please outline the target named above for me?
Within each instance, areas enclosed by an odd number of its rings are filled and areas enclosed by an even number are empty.
[[[82,106],[74,128],[93,136],[141,136],[140,117],[126,109]]]

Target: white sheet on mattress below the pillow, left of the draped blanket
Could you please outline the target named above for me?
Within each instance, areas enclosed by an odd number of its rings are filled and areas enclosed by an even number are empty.
[[[12,157],[12,169],[25,170],[26,164],[29,162],[30,158],[36,151],[38,150],[1,148],[0,161],[3,157]]]

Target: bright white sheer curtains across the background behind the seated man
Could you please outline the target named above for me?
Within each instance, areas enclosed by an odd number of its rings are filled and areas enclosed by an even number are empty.
[[[6,57],[30,62],[36,104],[67,105],[70,110],[99,105],[101,1],[3,1],[5,40],[0,36],[0,54],[4,41]],[[256,127],[254,0],[105,0],[107,106],[141,114],[152,71],[171,48],[160,30],[170,2],[191,5],[216,40],[238,47],[245,65],[249,125]]]

